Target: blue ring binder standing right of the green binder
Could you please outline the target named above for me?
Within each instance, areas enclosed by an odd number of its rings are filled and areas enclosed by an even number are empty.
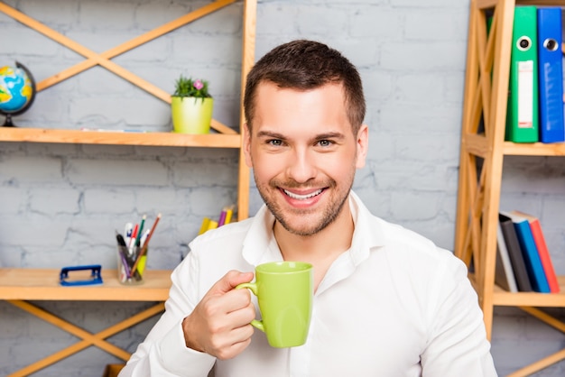
[[[565,141],[561,8],[538,8],[539,137],[542,143]]]

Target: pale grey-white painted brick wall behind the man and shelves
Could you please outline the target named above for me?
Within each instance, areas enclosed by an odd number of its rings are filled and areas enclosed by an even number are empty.
[[[7,0],[93,51],[106,51],[208,1]],[[112,7],[110,8],[110,3]],[[110,10],[111,9],[111,10]],[[136,75],[172,91],[181,74],[208,78],[214,116],[238,122],[242,3],[117,57]],[[360,69],[371,151],[355,189],[378,216],[452,249],[458,143],[468,32],[468,0],[259,1],[256,56],[282,41],[328,42]],[[38,81],[83,60],[0,14],[0,65],[19,60]],[[14,119],[46,128],[171,129],[169,106],[101,68],[40,93]],[[237,153],[229,150],[0,143],[0,264],[116,266],[114,230],[162,212],[149,268],[172,268],[202,216],[236,201]],[[565,274],[561,159],[508,158],[502,207],[542,219],[558,272]],[[261,200],[252,191],[251,213]],[[54,277],[56,278],[56,277]],[[90,331],[148,304],[38,302]],[[558,317],[563,310],[554,309]],[[32,363],[76,339],[0,302],[0,374]],[[112,337],[134,351],[154,319]],[[500,375],[560,349],[562,336],[514,308],[496,308],[493,354]],[[116,358],[95,348],[41,376],[99,376]],[[538,373],[562,376],[565,363]]]

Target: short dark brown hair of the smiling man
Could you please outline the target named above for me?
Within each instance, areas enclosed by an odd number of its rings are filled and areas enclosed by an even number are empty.
[[[244,109],[250,130],[255,115],[257,87],[264,81],[298,90],[341,83],[345,92],[347,118],[354,134],[357,134],[365,118],[365,96],[359,72],[339,51],[318,41],[284,43],[255,63],[245,83]]]

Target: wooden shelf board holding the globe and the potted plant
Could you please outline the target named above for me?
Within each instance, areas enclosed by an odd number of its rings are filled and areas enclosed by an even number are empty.
[[[0,142],[239,148],[241,135],[239,133],[129,133],[0,127]]]

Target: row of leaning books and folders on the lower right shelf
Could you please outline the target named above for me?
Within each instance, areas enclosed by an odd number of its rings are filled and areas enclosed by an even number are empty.
[[[560,291],[540,220],[519,211],[498,215],[496,284],[511,292]]]

